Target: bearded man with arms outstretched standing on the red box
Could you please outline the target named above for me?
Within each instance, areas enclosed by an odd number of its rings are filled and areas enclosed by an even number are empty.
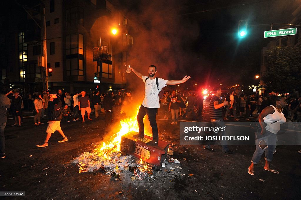
[[[166,85],[178,85],[185,83],[190,76],[185,76],[182,80],[168,81],[162,78],[156,78],[157,67],[154,65],[148,67],[149,76],[143,76],[132,67],[129,67],[129,69],[131,69],[145,83],[144,100],[137,115],[139,133],[134,137],[138,139],[142,139],[144,137],[143,118],[147,115],[153,132],[153,140],[146,144],[156,146],[158,145],[159,140],[158,126],[156,122],[157,110],[160,108],[159,93]]]

